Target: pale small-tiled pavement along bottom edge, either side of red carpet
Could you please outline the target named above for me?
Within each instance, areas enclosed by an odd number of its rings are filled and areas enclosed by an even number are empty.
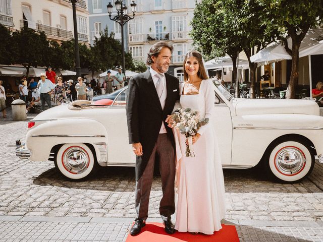
[[[130,225],[128,223],[1,221],[0,241],[125,241],[129,229]],[[236,229],[241,242],[323,241],[323,228],[321,227],[253,227],[236,225]]]

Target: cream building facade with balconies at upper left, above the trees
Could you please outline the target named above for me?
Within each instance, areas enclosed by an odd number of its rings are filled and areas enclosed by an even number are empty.
[[[76,4],[79,42],[89,43],[87,1]],[[74,38],[72,4],[69,0],[0,0],[0,23],[12,30],[23,27],[44,31],[48,40]]]

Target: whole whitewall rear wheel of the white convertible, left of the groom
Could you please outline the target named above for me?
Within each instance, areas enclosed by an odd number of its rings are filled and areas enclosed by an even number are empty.
[[[96,172],[98,164],[87,145],[70,143],[64,144],[58,150],[55,167],[61,175],[71,180],[83,180]]]

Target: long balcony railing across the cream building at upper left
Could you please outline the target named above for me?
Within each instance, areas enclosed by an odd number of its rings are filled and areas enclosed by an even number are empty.
[[[73,38],[72,31],[68,31],[66,29],[55,28],[55,27],[51,27],[49,25],[40,24],[40,23],[36,23],[36,22],[32,22],[32,21],[20,20],[20,28],[23,28],[23,27],[28,27],[28,28],[34,29],[38,32],[45,32],[46,35],[52,35],[52,36],[66,38],[66,39]]]

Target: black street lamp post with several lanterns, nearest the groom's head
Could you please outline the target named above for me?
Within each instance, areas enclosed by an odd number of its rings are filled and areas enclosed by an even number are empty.
[[[135,1],[132,1],[131,6],[131,12],[132,12],[132,17],[127,14],[128,8],[126,5],[123,5],[123,1],[117,0],[115,2],[116,9],[117,9],[117,15],[113,18],[111,18],[112,14],[112,8],[113,5],[111,2],[106,6],[107,8],[107,13],[109,13],[109,18],[117,23],[120,24],[121,26],[121,45],[122,45],[122,72],[124,76],[126,76],[126,65],[125,65],[125,45],[124,45],[124,34],[123,34],[123,27],[124,25],[131,19],[134,19],[135,13],[136,13],[136,8],[137,5],[135,4]]]

